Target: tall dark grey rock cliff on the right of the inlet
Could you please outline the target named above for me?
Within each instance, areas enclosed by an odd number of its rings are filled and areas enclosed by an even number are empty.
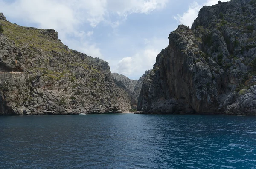
[[[256,0],[204,6],[169,35],[145,77],[137,110],[256,114]]]

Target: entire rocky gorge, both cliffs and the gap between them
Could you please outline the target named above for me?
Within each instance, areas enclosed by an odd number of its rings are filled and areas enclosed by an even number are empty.
[[[0,13],[0,115],[256,115],[256,0],[203,6],[139,80]]]

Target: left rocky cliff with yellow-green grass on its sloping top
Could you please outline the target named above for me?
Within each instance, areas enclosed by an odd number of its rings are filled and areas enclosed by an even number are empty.
[[[107,62],[69,49],[53,29],[21,27],[3,14],[0,24],[0,115],[128,111]]]

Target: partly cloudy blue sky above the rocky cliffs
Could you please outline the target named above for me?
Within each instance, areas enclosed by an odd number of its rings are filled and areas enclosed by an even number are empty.
[[[222,2],[230,0],[222,0]],[[191,27],[204,5],[218,0],[0,0],[0,12],[20,26],[55,29],[70,49],[139,79],[168,46],[170,32]]]

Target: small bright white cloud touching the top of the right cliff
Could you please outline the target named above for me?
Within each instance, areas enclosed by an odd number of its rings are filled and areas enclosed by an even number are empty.
[[[210,6],[210,5],[215,5],[218,3],[219,0],[207,0],[206,3],[204,4],[198,4],[197,2],[193,2],[189,5],[189,9],[184,12],[182,15],[177,15],[174,17],[175,20],[178,21],[179,24],[183,24],[186,26],[191,27],[194,20],[196,19],[196,17],[198,16],[198,12],[199,10],[204,6]],[[223,2],[227,2],[230,0],[222,0]]]

